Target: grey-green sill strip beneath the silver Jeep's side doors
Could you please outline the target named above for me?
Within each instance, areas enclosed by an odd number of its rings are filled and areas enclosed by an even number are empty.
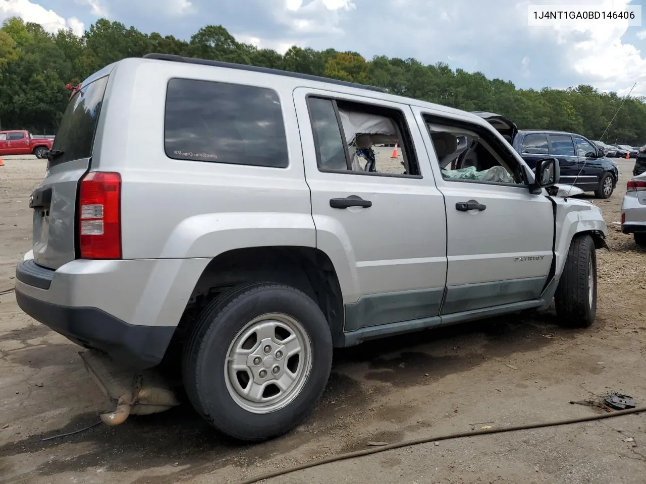
[[[476,319],[485,319],[492,316],[499,316],[501,314],[509,314],[525,309],[537,308],[543,305],[545,305],[545,299],[532,299],[531,301],[509,303],[490,308],[455,312],[453,314],[443,314],[442,316],[432,316],[430,318],[412,319],[410,321],[399,321],[398,323],[369,326],[355,331],[345,332],[342,334],[337,346],[351,347],[359,345],[359,343],[363,343],[364,341],[370,341],[371,339],[385,338],[386,336],[395,336],[397,334],[405,334],[422,329],[456,325],[458,323],[466,323],[467,321],[474,321]]]

